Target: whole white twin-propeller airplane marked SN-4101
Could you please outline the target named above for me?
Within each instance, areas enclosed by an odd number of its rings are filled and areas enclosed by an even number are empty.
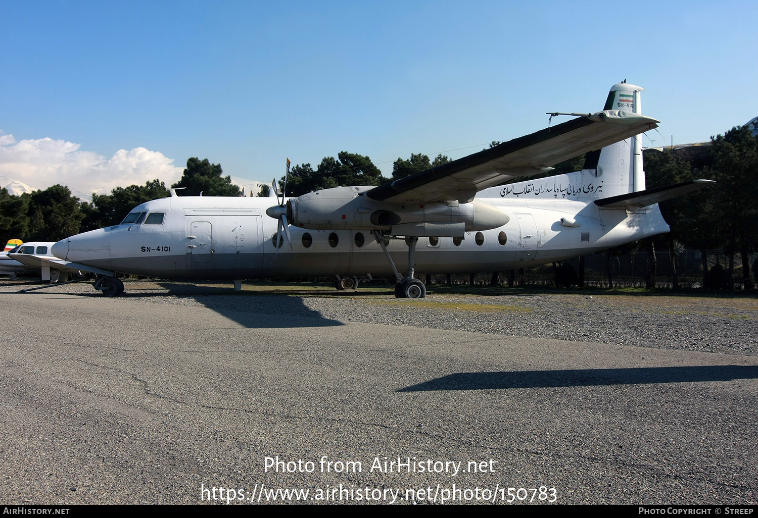
[[[641,114],[641,91],[619,83],[603,111],[567,114],[576,118],[384,186],[282,196],[273,207],[271,198],[172,190],[52,252],[60,265],[98,273],[95,288],[111,296],[124,290],[117,272],[234,279],[235,289],[242,279],[293,276],[335,276],[350,289],[358,276],[393,273],[399,298],[425,296],[415,268],[502,271],[592,254],[668,232],[657,203],[712,183],[645,189],[635,136],[658,121]],[[503,185],[588,151],[580,171]]]

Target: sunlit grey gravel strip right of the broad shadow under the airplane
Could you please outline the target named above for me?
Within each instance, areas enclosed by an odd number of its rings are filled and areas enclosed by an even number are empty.
[[[456,329],[530,338],[601,342],[726,354],[758,354],[756,310],[675,305],[675,297],[612,295],[433,295],[413,301],[344,301],[307,298],[324,317],[356,322]],[[484,300],[483,300],[484,299]],[[657,300],[656,300],[657,299]],[[672,301],[673,299],[673,301]],[[418,305],[417,305],[418,304]],[[456,309],[453,304],[467,304]],[[486,309],[471,306],[482,305]],[[496,307],[500,305],[500,307]],[[437,307],[435,307],[437,306]],[[488,307],[490,306],[490,307]],[[494,307],[493,307],[494,306]],[[460,307],[460,306],[458,306]]]

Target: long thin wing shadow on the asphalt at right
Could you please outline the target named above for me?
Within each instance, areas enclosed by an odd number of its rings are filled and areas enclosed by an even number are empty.
[[[756,365],[637,367],[631,369],[519,370],[500,373],[455,373],[396,392],[484,389],[545,389],[597,385],[641,385],[756,379]]]

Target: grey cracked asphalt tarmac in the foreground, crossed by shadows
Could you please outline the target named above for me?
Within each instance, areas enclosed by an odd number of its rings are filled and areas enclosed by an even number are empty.
[[[287,300],[296,317],[0,293],[0,503],[758,500],[756,356]]]

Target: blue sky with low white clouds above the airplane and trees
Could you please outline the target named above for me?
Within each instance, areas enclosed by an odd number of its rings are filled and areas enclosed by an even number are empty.
[[[270,181],[350,151],[389,176],[600,110],[625,78],[656,145],[696,142],[758,115],[755,20],[758,2],[6,0],[0,174],[92,192],[197,156]]]

